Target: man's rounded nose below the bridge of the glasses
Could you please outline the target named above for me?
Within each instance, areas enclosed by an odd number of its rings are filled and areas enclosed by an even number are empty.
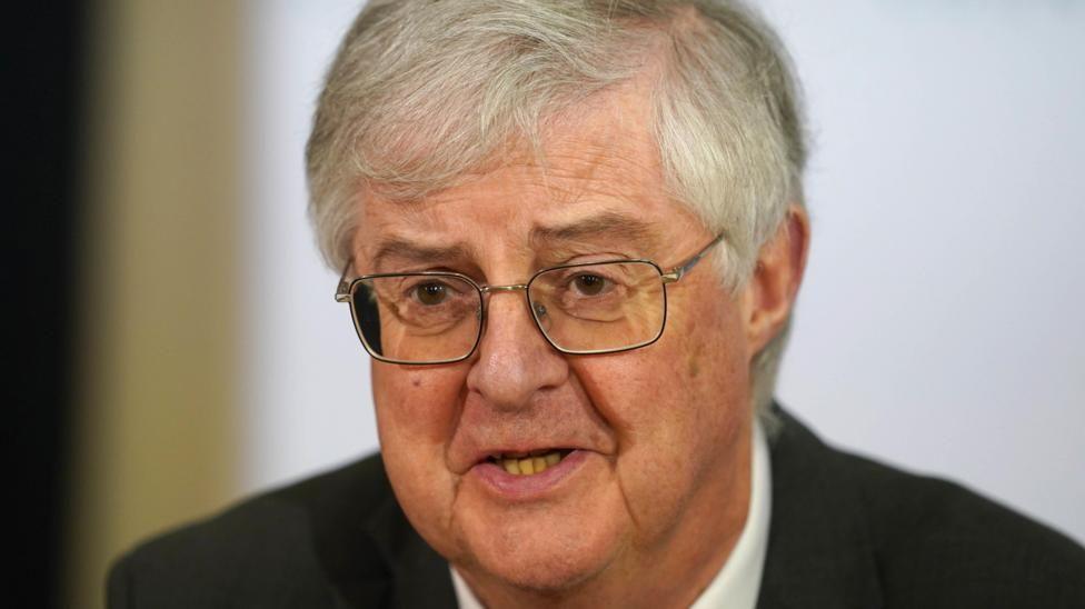
[[[467,387],[494,408],[522,408],[569,375],[565,357],[539,332],[524,297],[520,290],[488,296],[486,327]]]

